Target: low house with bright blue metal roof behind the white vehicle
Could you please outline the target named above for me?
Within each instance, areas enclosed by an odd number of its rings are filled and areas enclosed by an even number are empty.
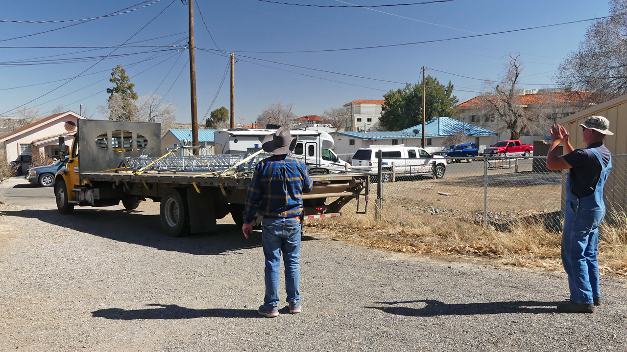
[[[470,123],[450,117],[438,117],[424,124],[424,149],[429,153],[438,152],[446,146],[446,137],[451,137],[461,131],[466,135],[464,143],[475,143],[480,151],[490,145],[490,139],[493,136],[497,136],[495,132]],[[421,124],[398,132],[335,132],[331,135],[335,142],[335,153],[352,155],[359,148],[376,145],[420,147],[423,133]]]

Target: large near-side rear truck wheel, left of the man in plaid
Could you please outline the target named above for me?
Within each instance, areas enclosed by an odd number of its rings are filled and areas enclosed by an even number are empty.
[[[176,189],[168,189],[161,197],[161,227],[170,237],[181,237],[189,234],[189,214],[187,203]]]

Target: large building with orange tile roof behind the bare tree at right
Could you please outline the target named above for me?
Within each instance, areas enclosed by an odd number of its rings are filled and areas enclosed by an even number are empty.
[[[592,93],[587,91],[559,91],[556,89],[540,89],[540,90],[520,90],[520,94],[515,95],[515,103],[522,106],[525,110],[532,108],[543,108],[545,115],[552,122],[556,122],[560,118],[576,113],[583,110],[588,106],[593,105],[590,103]],[[510,134],[505,130],[505,125],[490,116],[487,113],[487,108],[490,105],[488,101],[494,96],[475,96],[468,101],[464,101],[455,108],[455,118],[465,123],[471,123],[478,127],[486,128],[498,133],[493,137],[491,143],[496,143],[498,140],[509,139]],[[544,140],[546,133],[532,133],[527,132],[520,136],[521,142],[525,144],[532,144],[534,140]]]

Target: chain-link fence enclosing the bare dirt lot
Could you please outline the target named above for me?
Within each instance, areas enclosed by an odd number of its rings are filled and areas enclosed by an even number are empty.
[[[566,172],[548,170],[546,157],[447,158],[443,175],[434,172],[431,160],[426,163],[427,168],[416,165],[416,158],[394,159],[380,175],[376,165],[369,167],[368,213],[377,220],[382,213],[386,220],[398,216],[402,223],[401,217],[410,211],[466,219],[494,229],[533,220],[547,230],[561,231]],[[616,216],[624,219],[627,209],[627,155],[613,155],[612,165],[604,189],[608,221]],[[345,171],[364,172],[354,167]],[[342,216],[354,214],[354,203],[342,209]]]

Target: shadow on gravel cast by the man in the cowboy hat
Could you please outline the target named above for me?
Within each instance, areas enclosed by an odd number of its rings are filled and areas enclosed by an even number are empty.
[[[147,306],[161,308],[147,309],[122,309],[107,308],[92,312],[94,318],[107,318],[115,320],[135,319],[192,319],[192,318],[263,318],[257,314],[256,309],[192,309],[177,306],[176,304],[151,303]]]

